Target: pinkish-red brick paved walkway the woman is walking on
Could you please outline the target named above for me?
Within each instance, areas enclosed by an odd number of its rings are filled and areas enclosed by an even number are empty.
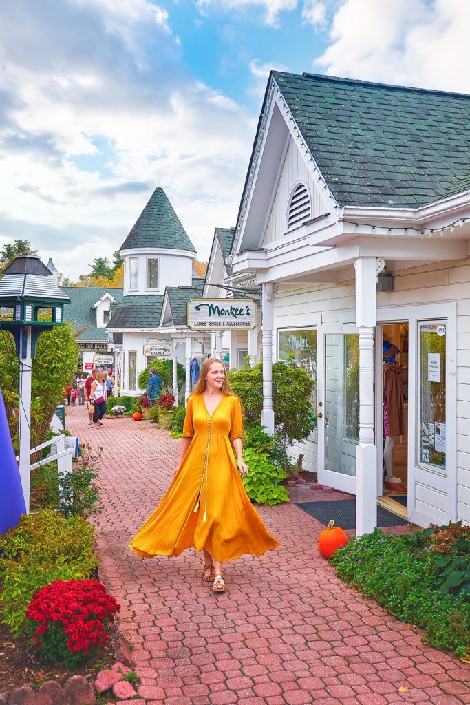
[[[94,431],[82,408],[67,416],[68,430],[104,446],[100,575],[122,606],[147,705],[470,703],[470,668],[338,580],[316,548],[323,527],[293,503],[259,510],[280,547],[227,564],[223,595],[192,551],[137,558],[128,541],[168,487],[180,441],[149,422],[105,419]]]

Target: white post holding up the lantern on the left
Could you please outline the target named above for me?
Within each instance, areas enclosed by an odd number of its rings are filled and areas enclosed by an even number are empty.
[[[20,443],[18,465],[20,469],[21,487],[25,498],[26,513],[30,513],[30,463],[31,463],[31,326],[21,326],[20,329]],[[26,345],[23,347],[23,336]],[[23,357],[23,350],[25,357]]]

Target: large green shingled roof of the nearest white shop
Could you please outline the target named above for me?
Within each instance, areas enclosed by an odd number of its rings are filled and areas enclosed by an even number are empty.
[[[340,205],[419,207],[464,190],[465,179],[468,187],[469,95],[309,73],[272,78]]]

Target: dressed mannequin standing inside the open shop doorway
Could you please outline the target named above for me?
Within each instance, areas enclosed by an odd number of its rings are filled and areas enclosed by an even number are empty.
[[[393,475],[393,450],[398,436],[404,433],[403,367],[396,362],[400,348],[390,341],[383,341],[383,464],[385,466],[384,489],[392,492],[407,492],[400,477]]]

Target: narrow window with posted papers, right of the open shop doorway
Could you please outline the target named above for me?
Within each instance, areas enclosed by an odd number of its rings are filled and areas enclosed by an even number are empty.
[[[445,470],[446,384],[444,322],[419,323],[419,458],[421,465]]]

